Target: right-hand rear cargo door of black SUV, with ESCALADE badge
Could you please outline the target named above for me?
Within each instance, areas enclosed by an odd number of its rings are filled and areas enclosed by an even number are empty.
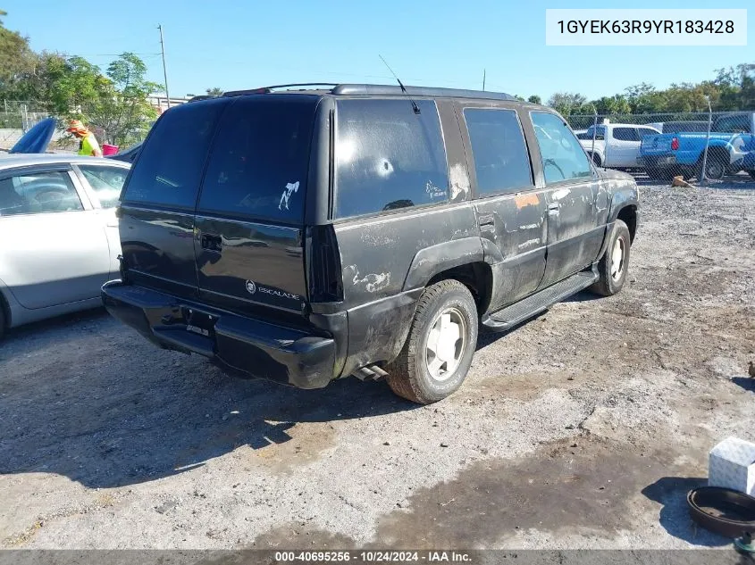
[[[223,114],[197,204],[203,303],[248,314],[303,312],[303,224],[318,99],[239,96]]]

